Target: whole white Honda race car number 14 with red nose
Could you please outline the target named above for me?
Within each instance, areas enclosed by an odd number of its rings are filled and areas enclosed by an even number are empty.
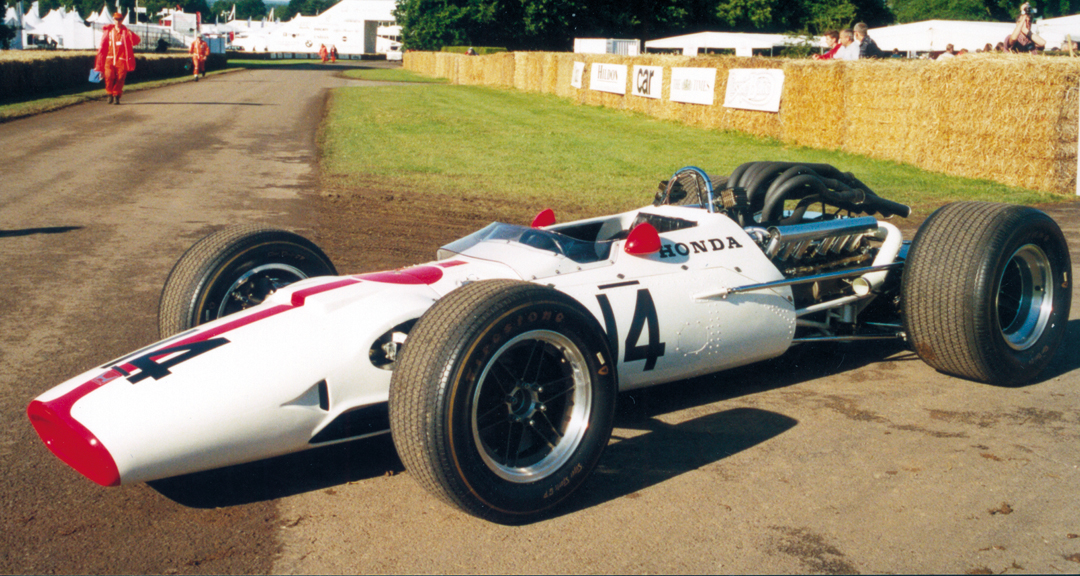
[[[299,236],[229,228],[170,273],[163,340],[27,412],[106,486],[390,431],[431,493],[529,522],[590,475],[620,391],[865,339],[1034,378],[1069,316],[1058,226],[961,202],[906,242],[883,220],[908,212],[831,165],[752,162],[683,169],[639,210],[495,223],[393,271],[338,276]]]

